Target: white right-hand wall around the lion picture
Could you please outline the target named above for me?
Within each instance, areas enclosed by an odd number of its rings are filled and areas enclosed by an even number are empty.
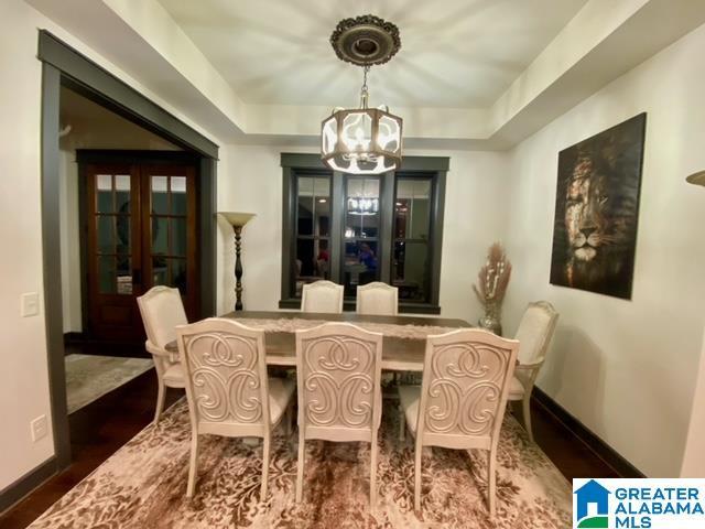
[[[529,301],[561,313],[539,387],[649,476],[677,476],[705,316],[705,26],[510,152],[508,331]],[[549,284],[557,152],[648,112],[632,301]]]

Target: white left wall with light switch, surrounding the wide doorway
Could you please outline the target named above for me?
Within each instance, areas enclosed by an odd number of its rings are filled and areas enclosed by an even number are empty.
[[[45,28],[85,53],[113,75],[142,91],[186,123],[220,143],[188,115],[162,100],[118,67],[57,28],[22,0],[0,2],[0,69],[12,83],[0,84],[0,490],[54,454],[52,425],[46,438],[32,443],[30,421],[51,418],[44,322],[41,230],[41,82],[36,58],[37,29]],[[219,179],[227,172],[221,154]],[[219,277],[223,270],[218,270]],[[20,296],[39,292],[41,313],[20,317]]]

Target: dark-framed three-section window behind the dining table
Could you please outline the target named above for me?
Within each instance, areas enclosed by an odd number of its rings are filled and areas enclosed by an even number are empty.
[[[399,288],[400,312],[437,314],[447,158],[406,156],[381,175],[323,166],[315,154],[282,154],[282,299],[297,309],[303,285],[327,279],[345,287]]]

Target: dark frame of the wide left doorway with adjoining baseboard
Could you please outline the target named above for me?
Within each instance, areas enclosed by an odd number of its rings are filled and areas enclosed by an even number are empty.
[[[198,154],[200,179],[200,312],[216,309],[216,181],[218,145],[47,32],[39,31],[42,62],[41,202],[44,313],[54,456],[0,492],[0,510],[70,464],[66,409],[59,246],[59,91],[69,87],[162,138]]]

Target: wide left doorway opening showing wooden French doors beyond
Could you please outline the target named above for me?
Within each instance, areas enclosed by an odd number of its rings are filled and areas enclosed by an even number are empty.
[[[175,287],[198,316],[198,156],[68,87],[59,122],[66,404],[72,438],[85,444],[106,419],[85,408],[154,378],[137,298]]]

